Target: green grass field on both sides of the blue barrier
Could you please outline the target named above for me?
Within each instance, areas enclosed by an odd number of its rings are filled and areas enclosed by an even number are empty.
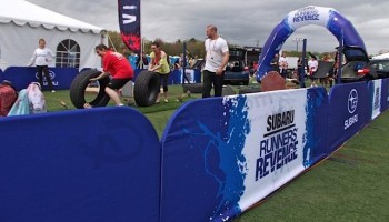
[[[159,137],[171,114],[181,85],[170,87],[169,103],[133,107],[151,121]],[[235,88],[235,90],[238,90]],[[50,112],[74,109],[69,91],[44,92]],[[183,102],[200,94],[183,98]],[[124,98],[132,100],[131,98]],[[110,103],[109,105],[113,105]],[[332,157],[285,185],[235,222],[389,221],[389,112],[381,114]]]

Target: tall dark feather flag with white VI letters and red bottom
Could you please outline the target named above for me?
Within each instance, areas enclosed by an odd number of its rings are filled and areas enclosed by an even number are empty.
[[[141,51],[140,0],[118,0],[121,39],[134,53]]]

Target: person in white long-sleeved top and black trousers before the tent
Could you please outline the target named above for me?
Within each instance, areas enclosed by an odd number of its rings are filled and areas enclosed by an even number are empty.
[[[32,58],[30,59],[27,67],[36,64],[38,80],[43,91],[43,74],[46,81],[48,82],[49,90],[56,92],[54,87],[52,85],[51,77],[49,73],[49,62],[54,58],[52,51],[46,48],[44,39],[39,39],[39,47],[33,51]]]

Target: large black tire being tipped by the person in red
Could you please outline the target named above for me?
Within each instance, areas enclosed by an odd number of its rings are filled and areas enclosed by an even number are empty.
[[[83,109],[86,100],[86,89],[90,84],[89,79],[99,77],[101,71],[98,70],[87,70],[80,72],[71,82],[70,85],[70,100],[73,105],[78,109]],[[106,107],[110,100],[109,95],[106,93],[106,87],[109,83],[109,78],[103,78],[98,80],[99,91],[97,97],[88,103],[92,107]]]

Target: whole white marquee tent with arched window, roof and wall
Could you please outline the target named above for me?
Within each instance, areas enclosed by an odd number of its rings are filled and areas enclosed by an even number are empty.
[[[100,68],[94,47],[107,31],[24,0],[0,0],[0,68],[24,67],[38,40],[56,53],[49,67]]]

